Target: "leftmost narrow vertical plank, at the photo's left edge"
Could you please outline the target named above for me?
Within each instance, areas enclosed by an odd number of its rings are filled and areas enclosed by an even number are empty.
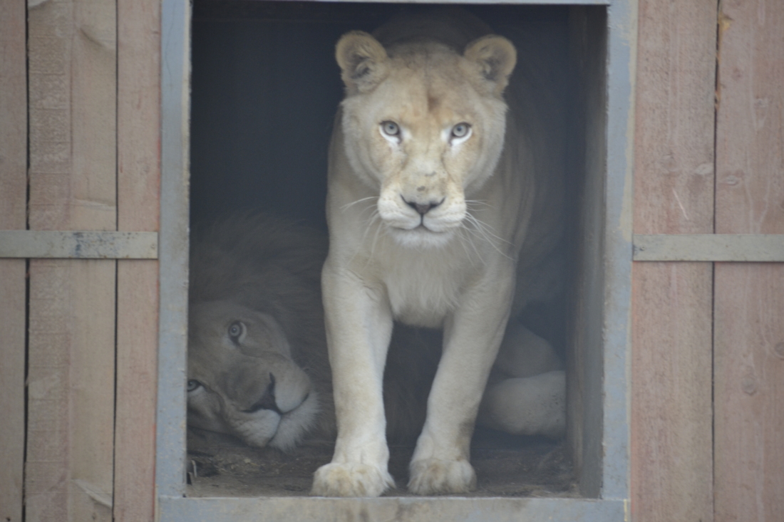
[[[0,0],[0,229],[27,226],[27,13]],[[24,259],[0,259],[0,520],[21,522],[24,480]]]

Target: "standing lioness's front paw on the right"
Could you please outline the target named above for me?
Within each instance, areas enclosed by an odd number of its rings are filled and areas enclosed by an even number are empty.
[[[416,495],[467,493],[476,485],[477,474],[466,460],[422,459],[411,462],[408,491]]]

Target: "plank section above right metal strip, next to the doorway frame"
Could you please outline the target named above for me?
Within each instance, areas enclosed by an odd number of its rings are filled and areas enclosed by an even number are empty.
[[[716,6],[641,0],[635,234],[713,233]]]

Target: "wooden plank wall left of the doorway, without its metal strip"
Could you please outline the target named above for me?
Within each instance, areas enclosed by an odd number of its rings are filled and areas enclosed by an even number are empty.
[[[0,227],[158,230],[158,2],[0,6]],[[24,476],[24,520],[153,520],[158,262],[25,265],[0,261],[0,518]]]

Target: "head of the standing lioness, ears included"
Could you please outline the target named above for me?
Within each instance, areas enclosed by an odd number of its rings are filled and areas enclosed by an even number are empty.
[[[337,58],[347,82],[343,135],[358,176],[378,190],[380,219],[402,245],[443,245],[466,219],[466,194],[492,175],[503,148],[501,93],[514,47],[480,38],[463,56],[445,45],[387,51],[350,33]]]

